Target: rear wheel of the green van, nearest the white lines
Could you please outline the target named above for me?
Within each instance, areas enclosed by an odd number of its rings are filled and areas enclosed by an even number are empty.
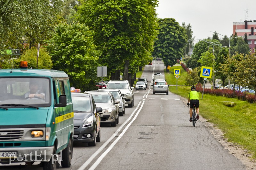
[[[72,152],[73,152],[72,139],[69,139],[68,146],[62,151],[62,155],[61,155],[62,167],[67,168],[71,165]]]

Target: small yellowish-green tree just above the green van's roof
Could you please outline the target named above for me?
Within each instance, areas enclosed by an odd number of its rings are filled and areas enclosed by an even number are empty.
[[[38,62],[37,60],[37,48],[32,47],[29,50],[26,50],[24,54],[21,55],[22,61],[28,61],[28,68],[37,68],[38,69],[52,69],[52,59],[45,48],[39,49]]]

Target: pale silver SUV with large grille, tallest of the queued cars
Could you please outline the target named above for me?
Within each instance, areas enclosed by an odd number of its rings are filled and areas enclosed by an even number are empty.
[[[128,104],[129,107],[134,106],[134,87],[130,86],[128,80],[110,80],[106,89],[119,89],[122,95],[126,97],[125,104]]]

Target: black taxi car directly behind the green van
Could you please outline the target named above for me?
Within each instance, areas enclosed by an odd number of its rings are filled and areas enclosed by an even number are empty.
[[[74,110],[74,143],[88,142],[96,146],[100,142],[101,107],[96,107],[91,94],[71,92]]]

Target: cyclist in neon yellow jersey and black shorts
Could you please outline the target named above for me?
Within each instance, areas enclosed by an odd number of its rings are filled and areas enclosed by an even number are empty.
[[[189,114],[190,114],[190,119],[189,121],[192,122],[192,109],[193,109],[193,106],[194,106],[194,103],[195,106],[196,106],[196,120],[199,119],[199,94],[198,92],[196,91],[196,87],[195,86],[192,86],[191,88],[191,91],[188,93],[188,103],[187,105],[189,105],[190,109],[189,109]]]

